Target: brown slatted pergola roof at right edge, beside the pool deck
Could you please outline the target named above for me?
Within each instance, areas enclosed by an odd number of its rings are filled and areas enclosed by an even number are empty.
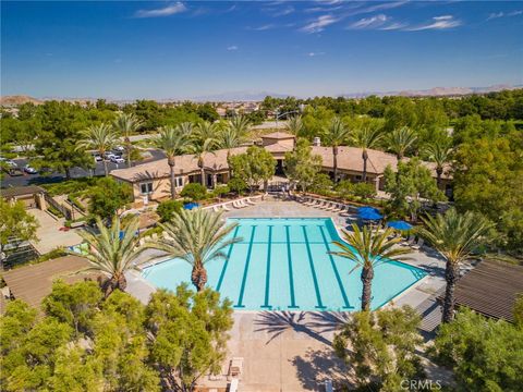
[[[523,266],[484,260],[458,281],[455,304],[514,322],[513,307],[523,293]]]

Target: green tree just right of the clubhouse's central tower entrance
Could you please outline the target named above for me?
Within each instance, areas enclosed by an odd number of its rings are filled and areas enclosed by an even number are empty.
[[[284,170],[292,183],[306,192],[321,170],[321,156],[313,155],[307,139],[299,138],[296,148],[285,152]]]

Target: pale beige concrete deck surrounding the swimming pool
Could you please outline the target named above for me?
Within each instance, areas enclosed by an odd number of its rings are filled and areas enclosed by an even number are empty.
[[[227,218],[330,217],[338,228],[346,217],[303,206],[295,201],[268,200],[224,213]],[[150,257],[144,254],[143,257]],[[427,275],[386,306],[411,305],[424,317],[422,330],[430,333],[439,319],[436,294],[445,286],[445,262],[430,250],[413,250],[408,264]],[[147,302],[155,289],[138,273],[127,275],[127,291]],[[377,289],[376,289],[377,290]],[[336,330],[349,314],[333,311],[245,311],[235,310],[222,375],[203,377],[199,384],[222,388],[229,363],[243,358],[241,391],[318,391],[327,379],[346,380],[350,371],[335,356],[331,344]],[[426,320],[428,318],[428,320]],[[427,321],[427,322],[426,322]],[[345,376],[344,376],[345,375]]]

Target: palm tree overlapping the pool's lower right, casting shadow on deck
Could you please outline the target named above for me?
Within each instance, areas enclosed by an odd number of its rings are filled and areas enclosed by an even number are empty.
[[[365,225],[361,230],[357,224],[353,223],[352,231],[352,233],[343,231],[343,242],[333,242],[341,250],[330,252],[330,254],[354,261],[355,266],[351,272],[362,268],[362,310],[369,310],[374,269],[390,260],[406,260],[408,258],[402,256],[411,250],[394,246],[401,242],[401,238],[389,240],[394,234],[391,228],[379,232],[379,228],[372,230]]]

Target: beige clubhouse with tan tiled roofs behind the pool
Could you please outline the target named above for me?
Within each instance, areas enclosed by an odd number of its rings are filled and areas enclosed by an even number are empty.
[[[262,136],[260,147],[269,151],[277,161],[276,174],[283,175],[283,161],[285,152],[294,149],[295,137],[283,132],[275,132]],[[312,146],[313,154],[319,155],[323,159],[323,170],[332,173],[333,156],[331,147]],[[247,147],[238,147],[230,150],[231,155],[243,154]],[[204,156],[204,167],[198,167],[198,160],[194,155],[182,155],[175,157],[174,175],[177,189],[181,191],[187,183],[202,183],[202,175],[205,176],[205,184],[214,188],[219,184],[227,184],[229,181],[229,164],[227,162],[227,149],[219,149],[207,152]],[[367,182],[375,184],[377,191],[385,185],[384,172],[390,164],[392,170],[397,169],[397,158],[392,154],[367,149]],[[425,162],[436,179],[435,166]],[[362,149],[356,147],[341,146],[338,149],[338,173],[342,180],[361,182],[363,180]],[[166,159],[138,164],[132,168],[118,169],[111,175],[133,186],[134,201],[147,203],[148,200],[162,200],[170,197],[170,168]],[[445,172],[442,185],[446,191],[450,186],[450,175]]]

